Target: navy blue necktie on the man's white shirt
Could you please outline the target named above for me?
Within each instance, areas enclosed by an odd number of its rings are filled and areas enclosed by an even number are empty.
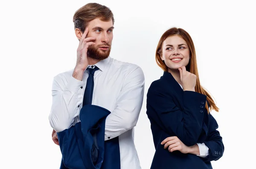
[[[84,90],[84,100],[83,100],[83,106],[92,104],[92,99],[93,99],[93,86],[94,86],[94,81],[93,81],[93,75],[96,70],[99,70],[97,66],[95,68],[87,68],[89,72],[89,77],[87,78],[87,83],[86,87]]]

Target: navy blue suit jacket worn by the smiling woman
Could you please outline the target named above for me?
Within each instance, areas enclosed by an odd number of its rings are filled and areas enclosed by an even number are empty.
[[[210,161],[221,158],[224,145],[216,130],[216,120],[205,109],[206,97],[183,91],[169,72],[151,83],[147,93],[147,115],[156,149],[151,169],[212,169]],[[205,143],[209,155],[201,158],[180,151],[169,152],[161,142],[171,136],[177,136],[186,146]]]

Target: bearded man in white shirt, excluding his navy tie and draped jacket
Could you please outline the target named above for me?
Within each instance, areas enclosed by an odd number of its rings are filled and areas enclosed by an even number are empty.
[[[58,144],[56,132],[78,123],[84,90],[89,76],[94,73],[92,105],[108,109],[105,121],[105,141],[119,139],[121,169],[140,169],[134,146],[136,126],[144,95],[142,69],[109,57],[113,39],[112,11],[97,3],[88,3],[73,17],[75,34],[79,40],[77,62],[73,70],[58,74],[52,85],[52,108],[49,122],[52,140]]]

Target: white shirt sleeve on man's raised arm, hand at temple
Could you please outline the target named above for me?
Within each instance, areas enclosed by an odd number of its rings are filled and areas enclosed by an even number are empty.
[[[73,125],[79,115],[79,107],[83,100],[84,82],[73,76],[65,77],[59,74],[52,83],[52,107],[49,123],[56,132],[61,132]]]

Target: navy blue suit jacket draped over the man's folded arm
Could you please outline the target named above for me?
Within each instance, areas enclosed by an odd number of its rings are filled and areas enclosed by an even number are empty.
[[[80,121],[62,132],[58,141],[62,160],[60,169],[120,169],[119,140],[104,141],[107,109],[85,105]]]

